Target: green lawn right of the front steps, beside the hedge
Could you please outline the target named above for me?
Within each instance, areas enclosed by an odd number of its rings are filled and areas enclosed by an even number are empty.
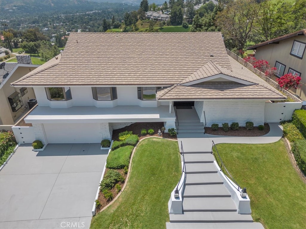
[[[266,229],[306,228],[306,184],[289,161],[284,142],[218,144],[234,179],[247,187],[252,217]]]

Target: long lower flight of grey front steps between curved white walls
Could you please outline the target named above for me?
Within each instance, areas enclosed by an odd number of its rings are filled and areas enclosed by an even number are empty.
[[[263,229],[251,214],[238,214],[211,152],[184,152],[183,214],[170,214],[167,229]]]

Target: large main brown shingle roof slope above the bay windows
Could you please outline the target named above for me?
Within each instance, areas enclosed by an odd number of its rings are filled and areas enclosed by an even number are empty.
[[[231,69],[220,32],[70,33],[58,64],[13,85],[169,85],[210,60]]]

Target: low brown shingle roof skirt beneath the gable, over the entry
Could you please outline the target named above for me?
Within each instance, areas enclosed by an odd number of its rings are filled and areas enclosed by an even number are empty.
[[[165,93],[166,92],[166,93]],[[190,86],[175,85],[157,92],[158,100],[195,99],[285,99],[276,89],[235,82],[205,82]]]

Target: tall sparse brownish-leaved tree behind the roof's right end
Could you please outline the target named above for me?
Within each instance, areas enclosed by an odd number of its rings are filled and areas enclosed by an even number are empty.
[[[225,40],[230,42],[231,47],[239,50],[244,48],[260,10],[261,3],[255,0],[237,0],[230,2],[221,13],[218,13],[216,25],[221,28]]]

